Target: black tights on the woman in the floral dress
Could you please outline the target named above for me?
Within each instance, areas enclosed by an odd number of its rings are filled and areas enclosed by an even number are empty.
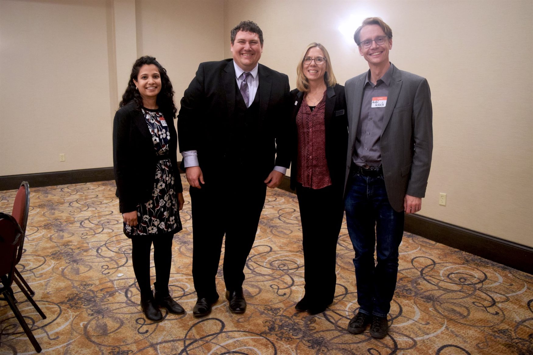
[[[133,272],[141,294],[151,295],[150,287],[150,248],[154,242],[154,264],[156,267],[156,292],[161,296],[168,295],[168,279],[172,264],[172,239],[174,233],[157,234],[154,236],[132,237]]]

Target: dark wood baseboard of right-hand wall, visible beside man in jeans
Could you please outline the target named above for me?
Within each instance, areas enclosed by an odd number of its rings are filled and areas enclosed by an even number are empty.
[[[290,189],[285,176],[278,188]],[[533,248],[420,215],[406,215],[404,230],[533,275]]]

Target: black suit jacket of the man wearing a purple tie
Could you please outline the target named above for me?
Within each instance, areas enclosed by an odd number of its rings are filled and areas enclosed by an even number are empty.
[[[289,80],[262,64],[258,74],[259,117],[249,133],[253,139],[244,139],[233,129],[238,89],[232,59],[200,63],[183,94],[177,116],[180,151],[198,152],[206,183],[215,182],[221,171],[239,169],[236,155],[249,157],[243,167],[249,178],[264,180],[274,166],[289,167]]]

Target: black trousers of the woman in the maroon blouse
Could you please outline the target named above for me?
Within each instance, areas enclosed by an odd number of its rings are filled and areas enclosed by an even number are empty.
[[[341,231],[344,201],[338,188],[296,185],[302,222],[305,298],[316,305],[329,305],[337,282],[337,239]]]

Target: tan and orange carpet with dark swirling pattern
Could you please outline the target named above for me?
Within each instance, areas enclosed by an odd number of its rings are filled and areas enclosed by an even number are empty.
[[[182,176],[183,179],[183,176]],[[183,181],[187,185],[186,181]],[[222,296],[194,318],[190,199],[173,244],[171,293],[187,313],[147,321],[139,306],[131,243],[122,233],[115,183],[31,188],[26,253],[18,265],[47,315],[41,319],[17,286],[19,309],[48,354],[533,354],[533,276],[405,233],[383,340],[346,331],[357,311],[354,255],[343,225],[337,246],[335,302],[309,316],[295,195],[268,191],[247,262],[248,309],[232,314]],[[15,190],[0,191],[10,212]],[[239,211],[235,211],[239,217]],[[320,262],[317,260],[317,262]],[[224,293],[221,273],[218,291]],[[9,306],[0,302],[0,354],[35,353]]]

